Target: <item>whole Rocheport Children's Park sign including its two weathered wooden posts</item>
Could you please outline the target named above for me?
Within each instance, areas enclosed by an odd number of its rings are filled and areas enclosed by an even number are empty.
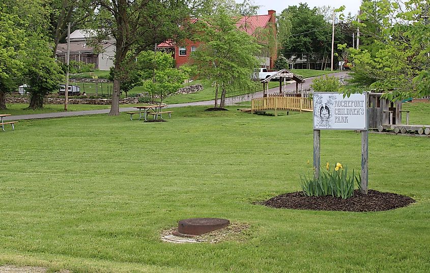
[[[320,177],[321,130],[361,131],[361,193],[367,194],[368,184],[368,111],[367,93],[343,97],[335,92],[313,93],[313,169]]]

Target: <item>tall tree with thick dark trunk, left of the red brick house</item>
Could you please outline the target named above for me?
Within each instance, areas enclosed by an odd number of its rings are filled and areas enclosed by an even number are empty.
[[[119,115],[121,76],[142,51],[166,40],[180,40],[187,29],[189,8],[181,0],[95,0],[97,38],[116,42],[112,105],[109,115]],[[128,54],[131,52],[132,54]]]

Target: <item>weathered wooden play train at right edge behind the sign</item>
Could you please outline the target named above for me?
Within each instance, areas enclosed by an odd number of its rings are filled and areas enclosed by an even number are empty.
[[[409,111],[402,110],[402,101],[391,101],[382,97],[382,93],[369,93],[369,128],[380,132],[393,130],[395,133],[415,131],[418,134],[430,134],[430,125],[409,124]],[[406,113],[406,124],[402,116]]]

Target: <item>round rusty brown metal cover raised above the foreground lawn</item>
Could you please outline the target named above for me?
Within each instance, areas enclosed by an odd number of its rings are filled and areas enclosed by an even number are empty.
[[[179,221],[178,232],[199,235],[230,225],[230,221],[220,218],[190,218]]]

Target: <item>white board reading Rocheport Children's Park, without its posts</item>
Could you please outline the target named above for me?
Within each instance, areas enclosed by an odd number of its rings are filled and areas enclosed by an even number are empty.
[[[314,130],[367,130],[367,94],[313,93]]]

